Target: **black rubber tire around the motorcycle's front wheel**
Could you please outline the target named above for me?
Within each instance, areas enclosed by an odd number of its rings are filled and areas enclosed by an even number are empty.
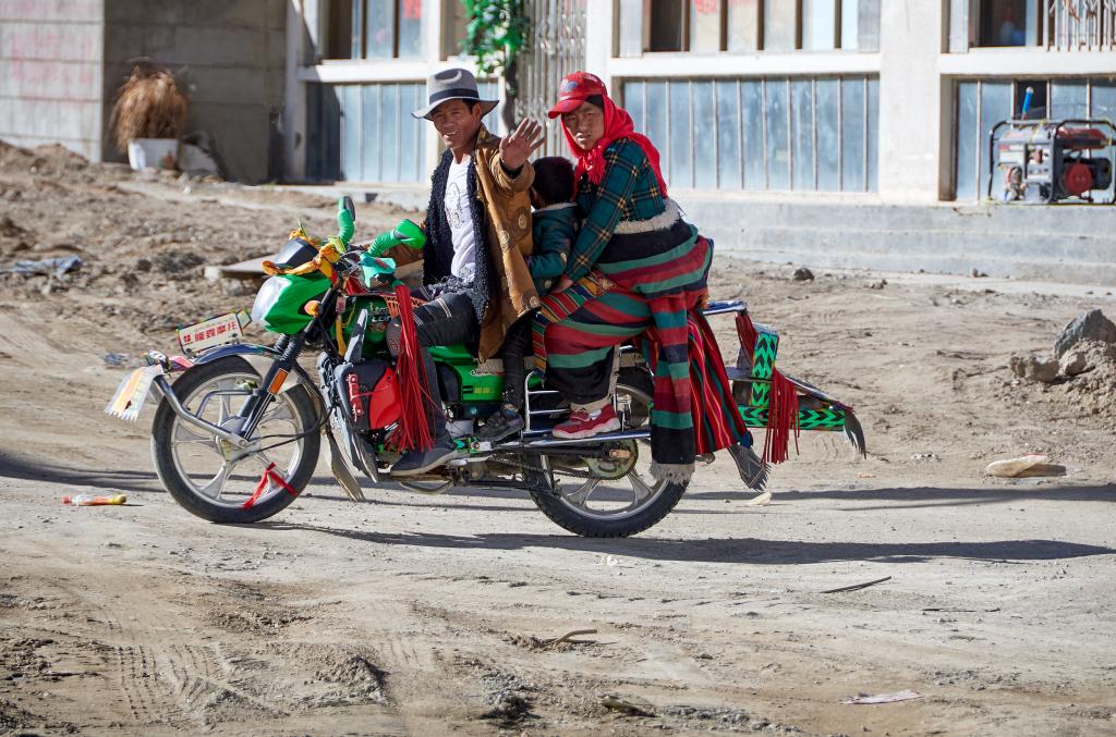
[[[174,394],[184,407],[193,408],[200,389],[208,385],[224,379],[231,381],[234,377],[254,377],[261,381],[259,372],[251,367],[248,361],[235,356],[221,358],[209,363],[201,363],[186,370],[174,382]],[[280,401],[287,403],[294,418],[290,424],[298,428],[299,433],[307,433],[318,425],[317,403],[310,396],[307,388],[298,385],[280,395]],[[297,421],[296,421],[297,420]],[[191,433],[201,435],[203,430],[194,429],[186,424],[171,408],[171,404],[164,397],[155,411],[155,419],[152,423],[151,447],[155,462],[155,473],[158,474],[163,486],[170,492],[174,501],[182,505],[191,514],[194,514],[209,522],[246,524],[266,520],[285,510],[295,501],[297,494],[309,484],[314,469],[318,464],[318,454],[321,447],[321,434],[309,431],[297,440],[298,458],[292,468],[285,469],[280,474],[287,485],[295,494],[278,492],[261,498],[258,503],[248,505],[246,508],[240,500],[234,502],[220,503],[200,494],[192,487],[191,479],[184,477],[184,472],[175,460],[174,437],[179,425],[190,428]],[[214,455],[217,452],[214,450]],[[254,473],[261,473],[254,469]],[[254,483],[254,482],[249,482]],[[220,494],[218,495],[220,496]]]

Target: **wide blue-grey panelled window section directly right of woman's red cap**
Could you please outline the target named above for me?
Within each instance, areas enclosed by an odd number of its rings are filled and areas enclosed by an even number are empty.
[[[875,192],[878,79],[628,79],[624,106],[667,185]]]

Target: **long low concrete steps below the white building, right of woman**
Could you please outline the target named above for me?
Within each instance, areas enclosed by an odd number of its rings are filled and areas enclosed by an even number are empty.
[[[719,252],[760,261],[1116,283],[1110,207],[679,201]]]

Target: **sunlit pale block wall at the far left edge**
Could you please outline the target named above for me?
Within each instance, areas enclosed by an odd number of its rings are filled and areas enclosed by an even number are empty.
[[[99,161],[105,0],[0,0],[0,139]]]

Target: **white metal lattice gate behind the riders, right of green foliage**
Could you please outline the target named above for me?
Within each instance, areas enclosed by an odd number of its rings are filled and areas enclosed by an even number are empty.
[[[528,51],[519,58],[516,118],[547,123],[541,156],[568,155],[561,127],[547,120],[561,78],[585,68],[586,0],[527,0],[531,18]]]

